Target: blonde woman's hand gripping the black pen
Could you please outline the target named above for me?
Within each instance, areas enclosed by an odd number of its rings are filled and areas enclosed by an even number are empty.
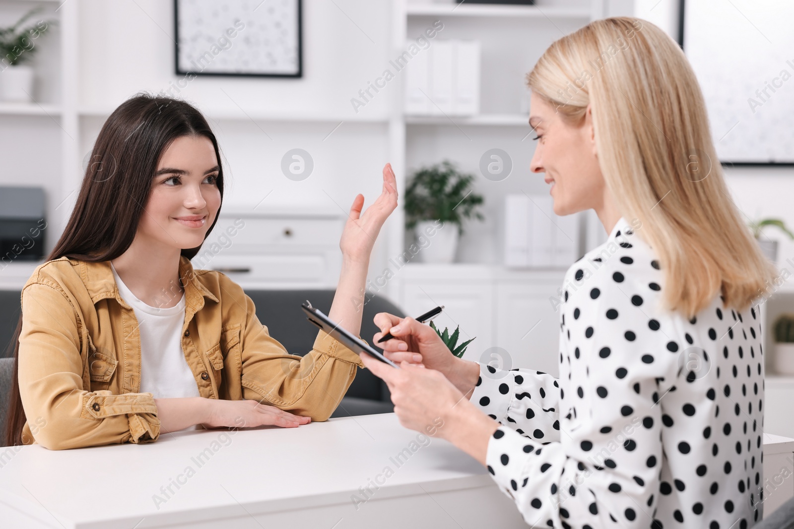
[[[403,361],[420,363],[431,370],[440,371],[466,397],[471,395],[480,376],[480,365],[453,355],[429,325],[388,312],[379,312],[373,321],[381,330],[372,338],[376,343],[387,332],[394,336],[378,344],[383,347],[386,358],[396,364]]]

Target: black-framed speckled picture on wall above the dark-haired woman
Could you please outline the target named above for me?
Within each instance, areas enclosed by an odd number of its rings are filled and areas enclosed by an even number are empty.
[[[178,75],[303,76],[301,0],[174,0]]]

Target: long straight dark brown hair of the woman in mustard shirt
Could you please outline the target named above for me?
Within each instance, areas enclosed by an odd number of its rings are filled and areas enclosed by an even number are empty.
[[[115,109],[102,125],[75,209],[46,260],[65,255],[97,263],[123,254],[133,243],[160,157],[180,136],[204,136],[212,142],[220,167],[216,182],[223,203],[223,168],[218,140],[202,113],[179,99],[137,94]],[[218,213],[220,211],[218,207]],[[207,236],[218,221],[218,213]],[[192,259],[200,248],[201,245],[183,249],[181,255]],[[17,380],[21,330],[20,312],[9,346],[9,350],[13,347],[13,381],[6,416],[6,446],[23,444],[22,427],[26,418]]]

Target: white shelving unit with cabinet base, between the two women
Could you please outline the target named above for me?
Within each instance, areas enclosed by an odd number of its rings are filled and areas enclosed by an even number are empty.
[[[461,342],[476,337],[464,358],[485,358],[486,362],[499,358],[513,367],[532,366],[556,373],[559,315],[549,298],[556,295],[565,270],[504,268],[500,216],[507,193],[548,193],[542,178],[528,171],[533,145],[523,141],[531,130],[529,115],[520,112],[523,75],[553,40],[605,16],[603,2],[490,6],[402,0],[393,3],[393,10],[392,56],[399,56],[415,36],[437,20],[443,29],[435,39],[480,40],[479,115],[405,115],[399,97],[393,102],[389,128],[392,157],[400,160],[404,174],[445,158],[475,174],[475,189],[484,194],[488,222],[465,226],[472,235],[468,248],[465,237],[461,240],[458,257],[463,263],[411,262],[395,273],[387,285],[394,287],[389,294],[412,316],[445,305],[436,323],[450,331],[460,325]],[[504,148],[514,157],[514,173],[505,182],[480,178],[480,155],[493,147]],[[395,255],[412,242],[403,224],[403,220],[392,224],[390,241]]]

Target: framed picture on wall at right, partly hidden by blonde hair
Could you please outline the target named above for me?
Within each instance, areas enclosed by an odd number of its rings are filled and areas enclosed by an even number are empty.
[[[794,3],[680,0],[680,44],[706,100],[723,165],[794,166]]]

